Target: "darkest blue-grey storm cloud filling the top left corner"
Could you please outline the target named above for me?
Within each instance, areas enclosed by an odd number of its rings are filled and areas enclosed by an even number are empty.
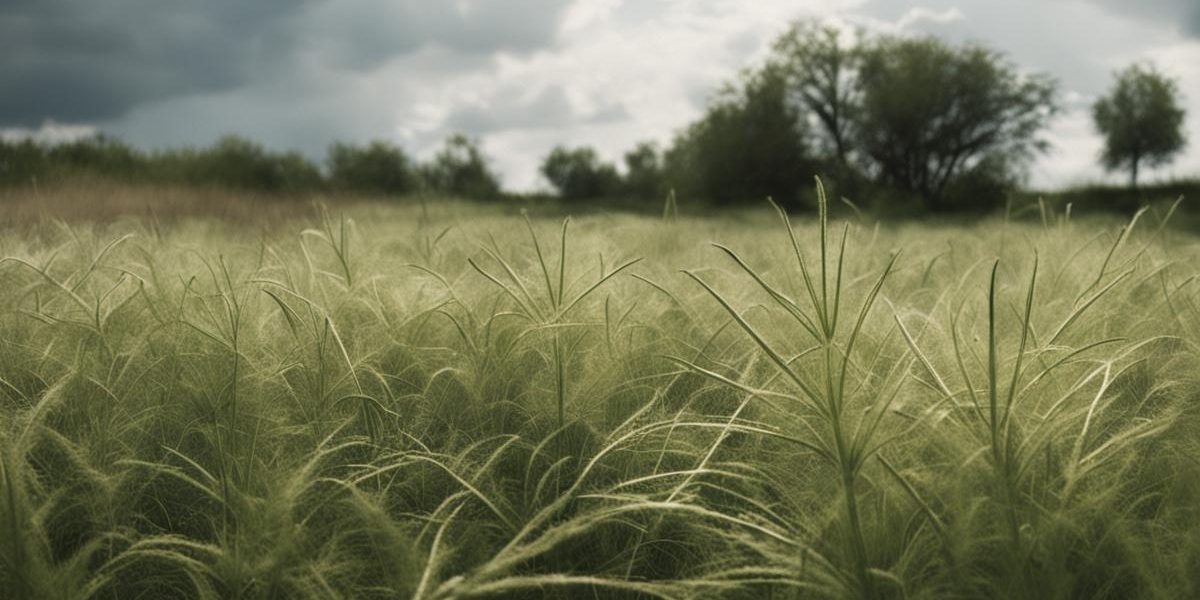
[[[289,0],[0,5],[0,122],[89,121],[253,77]]]

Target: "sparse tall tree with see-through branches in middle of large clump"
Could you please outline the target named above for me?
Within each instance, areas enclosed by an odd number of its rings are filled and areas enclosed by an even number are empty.
[[[787,78],[788,92],[824,130],[838,166],[846,169],[859,101],[860,53],[842,42],[836,28],[800,20],[775,40],[773,61]]]

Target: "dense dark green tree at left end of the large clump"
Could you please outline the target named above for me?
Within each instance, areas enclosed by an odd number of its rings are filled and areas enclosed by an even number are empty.
[[[820,170],[787,79],[775,67],[749,71],[727,85],[704,116],[676,137],[666,156],[668,181],[685,197],[716,204],[762,202],[796,206]]]

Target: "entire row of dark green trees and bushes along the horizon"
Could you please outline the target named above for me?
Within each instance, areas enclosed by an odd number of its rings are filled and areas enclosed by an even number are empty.
[[[1018,188],[1046,151],[1044,133],[1060,110],[1050,76],[1025,72],[995,49],[805,20],[665,148],[638,143],[618,169],[589,146],[558,146],[540,170],[564,202],[656,203],[674,192],[715,205],[772,197],[800,208],[811,176],[821,174],[852,198],[985,210]],[[1177,84],[1153,66],[1117,73],[1093,106],[1105,139],[1102,164],[1128,170],[1136,187],[1142,169],[1169,163],[1186,145],[1184,118]],[[478,142],[462,134],[424,163],[386,142],[335,144],[324,167],[239,137],[157,152],[107,137],[56,146],[0,143],[0,184],[83,172],[272,192],[504,196]]]

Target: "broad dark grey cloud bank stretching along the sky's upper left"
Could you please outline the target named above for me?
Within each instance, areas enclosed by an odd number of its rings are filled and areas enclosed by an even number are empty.
[[[112,120],[166,98],[302,78],[302,60],[365,70],[428,46],[530,52],[554,42],[564,5],[2,0],[0,126]]]

